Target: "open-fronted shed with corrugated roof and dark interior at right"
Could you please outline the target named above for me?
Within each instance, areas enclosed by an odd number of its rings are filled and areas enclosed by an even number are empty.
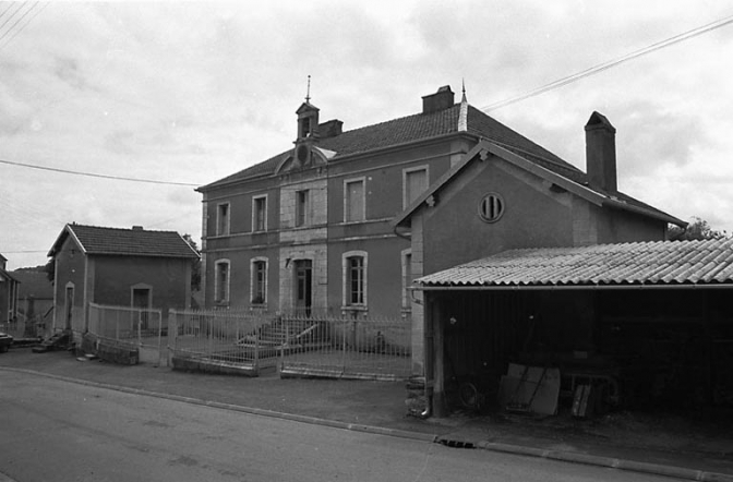
[[[513,364],[556,370],[561,406],[579,379],[629,408],[733,406],[731,239],[510,250],[416,284],[437,417]]]

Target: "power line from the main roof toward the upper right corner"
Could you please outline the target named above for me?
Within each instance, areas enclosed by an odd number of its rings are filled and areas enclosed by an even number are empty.
[[[553,91],[555,88],[563,87],[567,84],[570,84],[573,82],[577,82],[577,81],[579,81],[581,79],[585,79],[587,76],[594,75],[594,74],[598,74],[600,72],[603,72],[603,71],[605,71],[608,69],[611,69],[613,67],[616,67],[621,63],[624,63],[624,62],[627,62],[629,60],[636,59],[638,57],[645,56],[647,53],[651,53],[653,51],[663,49],[663,48],[672,46],[674,44],[678,44],[683,40],[687,40],[689,38],[697,37],[699,35],[702,35],[702,34],[706,34],[708,32],[714,31],[717,28],[723,27],[723,26],[729,25],[731,23],[733,23],[733,15],[724,17],[724,19],[717,20],[714,22],[702,25],[700,27],[693,28],[692,31],[687,31],[687,32],[684,32],[682,34],[675,35],[673,37],[666,38],[664,40],[651,44],[647,47],[635,50],[635,51],[633,51],[630,53],[627,53],[625,56],[617,57],[613,60],[609,60],[606,62],[599,63],[599,64],[593,65],[589,69],[584,70],[584,71],[574,73],[574,74],[568,75],[566,77],[562,77],[557,81],[545,84],[541,87],[529,91],[529,92],[527,92],[525,94],[521,94],[517,97],[513,97],[513,98],[509,98],[509,99],[506,99],[506,100],[500,100],[497,103],[491,104],[486,107],[481,108],[481,110],[484,111],[484,112],[488,112],[490,110],[500,109],[500,108],[506,107],[510,104],[515,104],[515,103],[518,103],[520,100],[525,100],[525,99],[528,99],[530,97],[538,96],[538,95],[543,94],[548,91]]]

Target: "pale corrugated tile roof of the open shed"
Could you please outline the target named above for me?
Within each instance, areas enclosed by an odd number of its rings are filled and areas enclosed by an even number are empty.
[[[733,239],[510,250],[416,280],[422,287],[720,285],[733,288]]]

